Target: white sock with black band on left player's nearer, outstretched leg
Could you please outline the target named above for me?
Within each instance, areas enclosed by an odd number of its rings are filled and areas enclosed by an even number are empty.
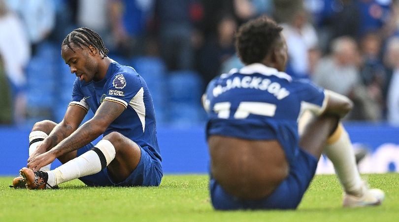
[[[115,148],[108,140],[101,140],[95,148],[98,148],[105,157],[106,163],[103,162],[102,166],[108,166],[115,158]],[[100,172],[102,168],[99,154],[94,150],[89,150],[60,167],[48,171],[47,183],[51,186],[55,186],[73,179],[96,174]]]

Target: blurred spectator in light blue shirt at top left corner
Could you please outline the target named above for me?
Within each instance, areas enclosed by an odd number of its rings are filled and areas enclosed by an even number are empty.
[[[53,0],[7,0],[9,8],[16,12],[24,23],[32,46],[32,52],[46,39],[55,25]]]

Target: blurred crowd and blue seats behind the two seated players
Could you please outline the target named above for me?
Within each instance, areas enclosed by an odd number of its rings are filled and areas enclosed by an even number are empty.
[[[347,120],[399,123],[399,0],[0,0],[0,124],[62,119],[60,45],[78,27],[146,79],[160,122],[201,121],[206,84],[243,66],[237,27],[260,15],[284,28],[288,74],[354,101]]]

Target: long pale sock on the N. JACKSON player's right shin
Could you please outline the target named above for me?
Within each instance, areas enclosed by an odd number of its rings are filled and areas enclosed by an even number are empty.
[[[349,135],[341,123],[327,140],[324,152],[334,165],[345,192],[362,195],[362,179],[356,165],[355,153]]]

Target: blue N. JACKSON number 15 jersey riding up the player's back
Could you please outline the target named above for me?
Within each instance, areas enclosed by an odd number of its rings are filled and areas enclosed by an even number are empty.
[[[214,78],[203,96],[206,135],[278,140],[289,162],[298,152],[298,118],[305,109],[320,114],[324,90],[309,80],[255,63]]]

